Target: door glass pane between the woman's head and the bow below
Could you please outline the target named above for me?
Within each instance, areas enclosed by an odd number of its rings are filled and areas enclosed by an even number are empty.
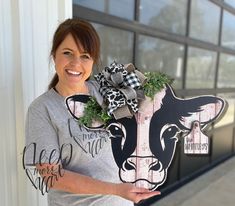
[[[126,64],[133,62],[133,39],[132,32],[93,24],[100,36],[102,68],[116,61]]]

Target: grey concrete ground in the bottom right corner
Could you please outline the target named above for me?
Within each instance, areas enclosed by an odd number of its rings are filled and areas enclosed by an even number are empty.
[[[235,157],[151,206],[235,206]]]

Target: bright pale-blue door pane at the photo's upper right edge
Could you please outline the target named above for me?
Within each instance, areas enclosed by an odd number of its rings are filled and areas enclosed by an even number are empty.
[[[235,49],[235,16],[224,11],[222,46]]]

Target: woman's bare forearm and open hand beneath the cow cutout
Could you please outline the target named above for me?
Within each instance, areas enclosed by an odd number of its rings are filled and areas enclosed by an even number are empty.
[[[59,165],[42,164],[36,166],[38,171],[48,171],[42,173],[44,180],[54,177],[56,171],[59,171]],[[53,171],[53,175],[50,172]],[[159,191],[150,191],[145,188],[136,187],[130,183],[110,183],[93,179],[69,170],[62,169],[61,176],[56,176],[53,184],[46,185],[57,190],[63,190],[75,194],[101,194],[117,195],[134,203],[159,195]]]

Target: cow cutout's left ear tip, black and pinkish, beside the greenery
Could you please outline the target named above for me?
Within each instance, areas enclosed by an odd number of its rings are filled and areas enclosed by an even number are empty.
[[[78,120],[83,116],[84,106],[91,96],[85,94],[72,95],[65,99],[66,107],[72,117]]]

